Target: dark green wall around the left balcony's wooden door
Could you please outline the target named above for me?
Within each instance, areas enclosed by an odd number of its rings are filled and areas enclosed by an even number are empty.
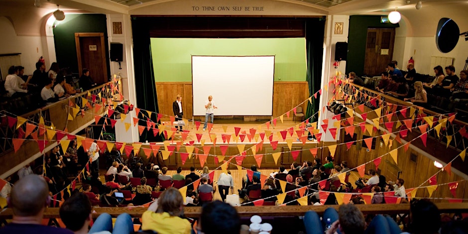
[[[53,29],[55,54],[60,68],[69,67],[73,73],[78,71],[75,32],[103,32],[106,45],[106,60],[109,61],[109,43],[105,14],[67,14],[62,21],[55,21]],[[53,62],[53,61],[51,61]],[[111,74],[108,64],[108,74]],[[49,69],[49,68],[47,68]]]

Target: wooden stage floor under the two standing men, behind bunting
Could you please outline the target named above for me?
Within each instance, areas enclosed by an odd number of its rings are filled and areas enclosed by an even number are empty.
[[[232,135],[234,131],[234,127],[240,127],[240,132],[239,134],[249,134],[249,129],[253,128],[256,129],[256,134],[260,132],[264,132],[265,130],[270,130],[273,134],[273,141],[275,140],[280,140],[283,141],[283,139],[278,135],[279,131],[286,130],[290,127],[294,127],[294,131],[299,129],[299,126],[301,125],[300,121],[296,121],[296,123],[292,120],[284,120],[281,122],[281,120],[278,118],[276,122],[276,126],[273,126],[273,124],[270,122],[270,127],[269,129],[267,128],[266,124],[264,124],[265,121],[242,121],[242,120],[236,120],[236,119],[215,119],[214,124],[213,124],[213,130],[208,131],[206,129],[203,131],[203,124],[204,122],[200,122],[200,127],[196,128],[196,125],[194,122],[190,121],[188,126],[184,127],[185,130],[190,130],[190,133],[188,134],[186,141],[195,141],[198,143],[197,135],[196,134],[202,134],[201,140],[205,140],[207,144],[211,144],[211,139],[210,139],[210,134],[216,134],[216,143],[223,143],[223,138],[221,134],[230,134]],[[227,127],[226,132],[224,131],[223,126]],[[167,129],[167,128],[166,128]],[[242,133],[242,131],[245,131]],[[291,136],[289,133],[286,136],[286,139],[288,138],[294,138],[295,140],[297,139],[297,134],[294,132],[293,136]],[[182,136],[180,133],[175,133],[174,135],[174,140],[181,140]],[[255,143],[255,142],[260,142],[261,138],[258,137],[257,140],[254,139],[252,136],[252,139],[250,142]],[[310,142],[310,141],[309,141]],[[230,143],[236,143],[235,139],[231,137]],[[245,144],[249,143],[249,140],[247,136],[245,136],[244,141],[241,142],[240,137],[238,138],[239,144]]]

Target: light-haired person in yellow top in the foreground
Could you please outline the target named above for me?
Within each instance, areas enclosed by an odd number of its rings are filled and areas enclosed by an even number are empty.
[[[180,218],[183,208],[184,202],[179,190],[168,188],[161,194],[157,203],[152,203],[141,215],[141,230],[152,230],[158,234],[190,234],[190,222]]]

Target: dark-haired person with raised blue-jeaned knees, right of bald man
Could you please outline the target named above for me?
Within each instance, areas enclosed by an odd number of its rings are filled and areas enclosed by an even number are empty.
[[[82,194],[74,194],[66,200],[60,207],[60,219],[67,229],[75,234],[131,234],[133,233],[133,222],[130,215],[120,214],[112,227],[112,217],[107,213],[101,214],[93,223],[93,227],[88,231],[92,221],[92,207],[89,199]],[[114,230],[114,232],[113,232]]]

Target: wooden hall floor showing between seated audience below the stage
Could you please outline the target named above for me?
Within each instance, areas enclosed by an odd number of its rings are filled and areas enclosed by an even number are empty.
[[[258,169],[258,171],[262,175],[269,176],[270,173],[275,172],[277,170]],[[101,181],[103,183],[104,183],[104,173],[106,173],[106,171],[101,170],[101,177],[100,178],[101,178]],[[237,189],[242,189],[242,177],[246,177],[246,173],[247,173],[246,170],[242,170],[242,171],[231,170],[231,175],[233,176],[233,179],[234,179],[234,194],[238,195]],[[166,173],[166,175],[170,175],[170,176],[172,176],[174,174],[176,174],[176,171],[167,171],[167,173]],[[189,170],[183,170],[181,172],[181,174],[185,176],[185,175],[190,174],[190,171]],[[197,173],[197,174],[200,175],[200,173]],[[221,174],[221,170],[215,170],[215,176],[214,176],[215,182],[218,181],[218,178],[219,178],[220,174]],[[355,187],[354,181],[356,181],[357,179],[359,179],[359,174],[357,172],[355,172],[355,171],[351,171],[350,182],[351,182],[351,184],[353,184],[353,187]],[[218,187],[218,186],[216,186],[216,187]],[[231,194],[231,190],[229,191],[229,194]],[[221,196],[220,196],[220,193],[218,192],[218,190],[215,192],[213,199],[214,200],[221,200]]]

